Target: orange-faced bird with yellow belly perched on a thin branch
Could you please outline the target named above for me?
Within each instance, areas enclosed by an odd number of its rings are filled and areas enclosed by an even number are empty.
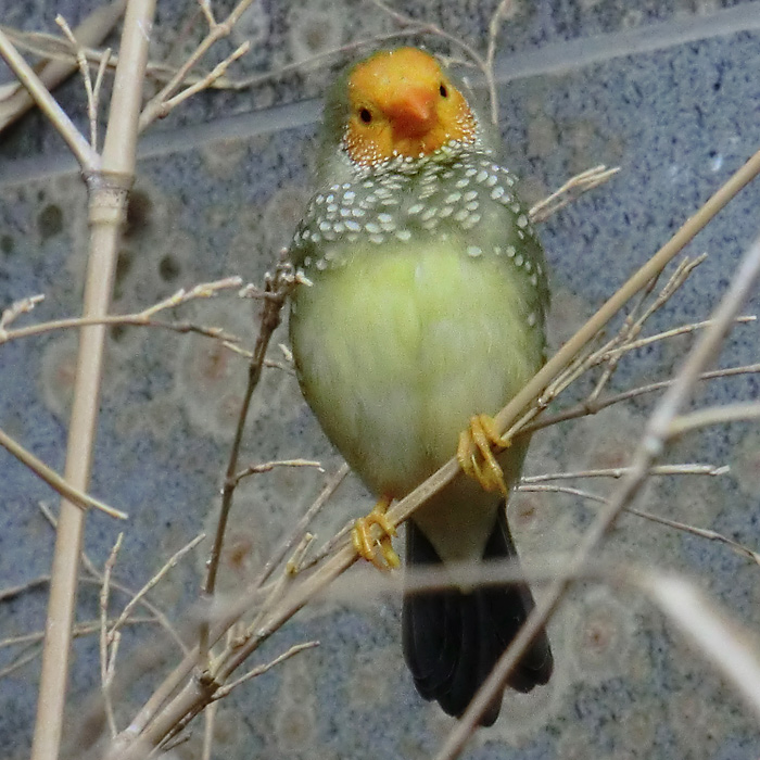
[[[395,567],[389,505],[455,451],[466,472],[406,523],[407,567],[441,569],[449,583],[405,593],[402,607],[415,686],[454,717],[534,607],[524,581],[473,585],[461,573],[519,561],[506,497],[528,440],[501,438],[491,415],[545,362],[549,291],[516,183],[466,81],[427,50],[381,49],[327,93],[316,189],[289,249],[303,395],[378,497],[355,527],[357,549]],[[542,630],[507,684],[530,692],[553,668]]]

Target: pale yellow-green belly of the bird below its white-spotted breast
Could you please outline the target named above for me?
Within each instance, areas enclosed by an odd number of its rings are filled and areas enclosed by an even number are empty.
[[[494,414],[530,379],[543,346],[503,259],[440,240],[410,248],[318,273],[291,314],[300,381],[325,432],[372,491],[395,497],[454,455],[472,415]]]

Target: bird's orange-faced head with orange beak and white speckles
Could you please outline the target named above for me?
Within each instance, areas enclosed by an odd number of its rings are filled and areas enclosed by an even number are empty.
[[[454,141],[473,144],[478,118],[460,86],[417,48],[381,50],[352,66],[325,106],[325,149],[352,164],[429,155]]]

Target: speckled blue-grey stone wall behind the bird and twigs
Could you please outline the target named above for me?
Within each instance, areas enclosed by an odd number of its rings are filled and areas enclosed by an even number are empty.
[[[482,50],[495,4],[467,0],[395,8]],[[75,23],[96,3],[8,5],[0,8],[3,24],[52,30],[55,13]],[[152,56],[178,62],[200,39],[201,26],[191,24],[194,5],[159,7]],[[497,61],[499,123],[509,166],[523,177],[528,200],[592,165],[621,167],[608,185],[540,228],[553,270],[549,332],[556,347],[760,147],[760,2],[515,0],[507,16]],[[244,39],[252,42],[252,52],[231,74],[257,76],[394,28],[370,3],[257,2],[228,43],[231,49]],[[228,51],[225,45],[219,56]],[[330,68],[299,71],[241,92],[206,93],[152,128],[141,147],[114,312],[226,275],[261,282],[308,198],[314,99],[330,78]],[[56,94],[84,124],[80,90],[74,79]],[[0,140],[0,306],[45,293],[34,319],[80,308],[86,198],[72,167],[60,138],[38,114],[28,114]],[[749,187],[689,246],[691,255],[709,257],[654,318],[653,332],[709,313],[758,235],[759,203],[760,191]],[[756,297],[746,311],[759,307]],[[251,345],[256,311],[229,295],[192,303],[179,316],[223,326]],[[282,358],[277,344],[286,340],[281,329],[271,358]],[[643,350],[622,363],[615,387],[667,378],[688,345],[689,339],[680,338]],[[759,346],[757,327],[739,327],[721,362],[758,362]],[[75,349],[71,332],[0,347],[0,427],[59,470]],[[116,571],[123,583],[139,586],[169,554],[213,524],[244,382],[244,362],[203,338],[112,331],[91,491],[130,514]],[[743,376],[702,388],[699,402],[757,395],[756,377]],[[626,464],[649,408],[648,400],[639,400],[537,434],[528,472]],[[340,464],[294,378],[268,369],[254,400],[243,460],[291,457],[319,458],[328,471]],[[757,549],[757,426],[720,427],[689,438],[670,460],[729,464],[732,471],[720,479],[654,479],[638,506]],[[245,485],[235,506],[224,590],[233,591],[256,572],[324,478],[313,470],[277,470]],[[597,493],[606,487],[590,484]],[[53,533],[39,501],[55,504],[42,483],[0,452],[0,587],[49,571]],[[362,486],[347,481],[317,525],[319,539],[369,505]],[[567,494],[519,494],[510,509],[529,567],[542,553],[571,549],[594,515],[593,504]],[[88,520],[87,552],[99,566],[118,529],[100,515]],[[758,630],[758,568],[725,546],[625,516],[603,554],[683,571],[731,616]],[[167,615],[179,616],[195,597],[205,556],[205,549],[197,552],[152,593]],[[320,647],[220,705],[216,757],[414,759],[440,747],[453,722],[418,698],[405,671],[400,600],[373,596],[368,569],[351,573],[365,590],[360,600],[327,598],[311,606],[257,661],[299,641],[318,638]],[[97,598],[98,586],[84,584],[81,621],[97,616]],[[0,599],[0,638],[39,631],[45,604],[45,584]],[[760,752],[757,724],[738,697],[635,593],[579,586],[553,621],[550,637],[556,673],[549,685],[527,696],[507,695],[503,717],[478,732],[467,758],[734,760]],[[139,661],[147,639],[163,646],[153,629],[135,626],[125,634],[125,669]],[[76,644],[73,731],[83,706],[97,694],[97,649],[92,636]],[[20,646],[0,648],[0,669],[25,653]],[[38,669],[34,659],[0,681],[3,757],[28,752]],[[144,699],[154,677],[128,684],[122,719]],[[177,757],[199,756],[200,733],[176,749]],[[69,755],[78,757],[75,749]]]

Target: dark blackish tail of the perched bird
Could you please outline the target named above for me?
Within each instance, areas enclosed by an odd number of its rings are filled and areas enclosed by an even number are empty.
[[[407,565],[441,563],[435,549],[411,520],[406,523],[406,536]],[[504,505],[498,509],[498,521],[483,559],[518,559]],[[436,699],[449,715],[461,715],[534,606],[525,583],[479,586],[470,593],[446,590],[405,596],[404,657],[420,696]],[[530,692],[549,680],[553,668],[549,642],[546,632],[542,632],[507,684],[518,692]],[[501,707],[498,694],[481,724],[491,725]]]

